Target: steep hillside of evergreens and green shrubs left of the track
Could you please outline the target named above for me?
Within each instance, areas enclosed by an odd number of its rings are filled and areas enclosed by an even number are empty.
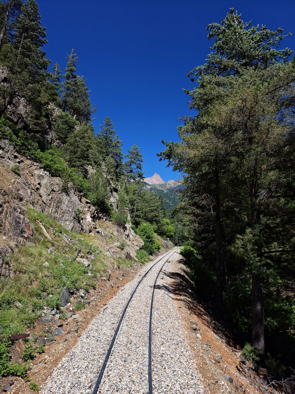
[[[1,138],[20,154],[41,163],[63,180],[63,190],[74,188],[103,215],[124,226],[129,214],[138,226],[147,221],[166,234],[162,199],[144,190],[143,157],[138,145],[122,153],[122,141],[106,116],[94,130],[96,113],[84,76],[77,74],[79,56],[66,52],[62,72],[43,49],[45,28],[34,0],[2,1],[1,6]],[[114,197],[115,195],[115,197]],[[153,213],[147,211],[153,206]]]

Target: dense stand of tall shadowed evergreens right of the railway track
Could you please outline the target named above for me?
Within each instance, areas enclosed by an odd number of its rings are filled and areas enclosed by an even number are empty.
[[[263,22],[263,21],[262,21]],[[183,256],[201,297],[249,342],[247,357],[290,374],[295,355],[294,103],[286,37],[234,9],[207,27],[206,63],[188,76],[192,115],[161,159],[185,175]],[[250,344],[251,343],[251,344]]]

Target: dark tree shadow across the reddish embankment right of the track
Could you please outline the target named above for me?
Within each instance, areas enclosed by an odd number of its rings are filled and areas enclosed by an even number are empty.
[[[183,266],[183,262],[176,262],[176,264],[179,264],[179,272],[162,271],[163,275],[171,279],[170,283],[168,285],[156,284],[155,288],[166,291],[176,301],[183,301],[189,313],[198,316],[208,329],[219,336],[220,340],[236,349],[242,349],[242,342],[245,342],[247,338],[242,337],[228,322],[220,319],[214,307],[197,295],[197,289],[190,280],[190,272]]]

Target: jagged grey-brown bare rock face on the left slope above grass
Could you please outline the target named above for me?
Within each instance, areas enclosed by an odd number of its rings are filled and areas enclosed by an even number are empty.
[[[13,174],[11,165],[20,166],[20,177]],[[5,240],[23,245],[33,242],[26,206],[52,216],[66,229],[76,232],[90,232],[92,219],[97,212],[90,201],[70,188],[64,193],[61,178],[51,177],[39,164],[19,158],[8,141],[0,140],[0,234]],[[80,213],[81,212],[81,213]],[[2,222],[2,223],[1,223]]]

